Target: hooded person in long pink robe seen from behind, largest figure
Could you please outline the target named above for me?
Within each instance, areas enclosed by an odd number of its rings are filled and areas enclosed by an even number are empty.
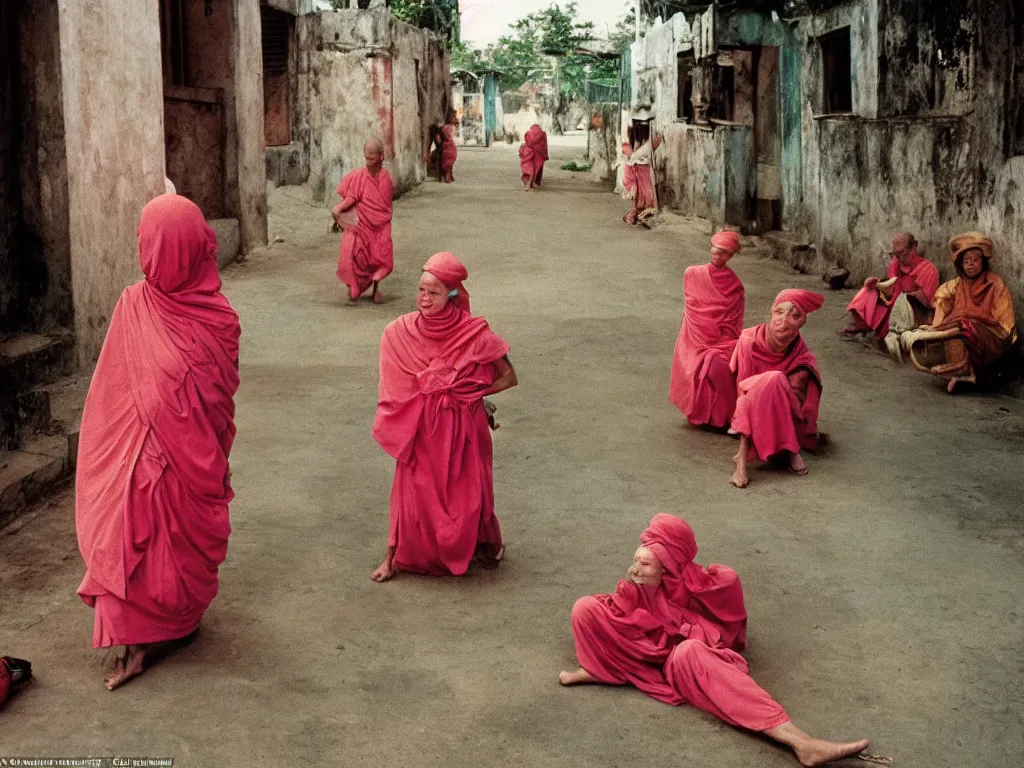
[[[217,238],[194,203],[162,195],[142,210],[138,246],[145,280],[114,308],[76,481],[92,645],[125,646],[111,690],[195,636],[217,594],[233,497],[241,332],[220,292]]]

